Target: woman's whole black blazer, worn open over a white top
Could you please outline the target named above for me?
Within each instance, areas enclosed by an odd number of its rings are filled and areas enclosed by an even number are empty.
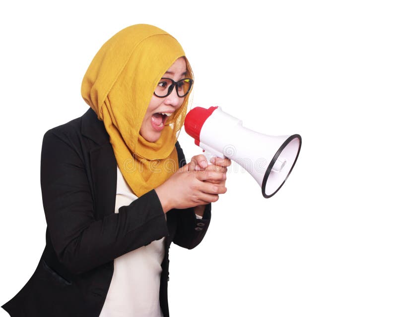
[[[179,165],[186,164],[179,143]],[[167,212],[154,190],[115,213],[117,162],[102,121],[90,108],[46,132],[41,155],[41,189],[47,221],[46,247],[21,291],[2,308],[11,317],[98,317],[113,275],[113,260],[165,238],[160,306],[167,301],[171,242],[192,249],[209,225],[192,208]]]

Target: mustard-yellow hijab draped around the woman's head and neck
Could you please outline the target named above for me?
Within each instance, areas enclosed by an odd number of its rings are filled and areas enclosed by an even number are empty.
[[[105,124],[117,164],[140,197],[178,169],[175,143],[185,120],[188,97],[168,118],[156,142],[139,130],[160,78],[185,53],[167,32],[147,24],[127,27],[95,55],[81,84],[84,101]],[[187,77],[193,74],[187,64]]]

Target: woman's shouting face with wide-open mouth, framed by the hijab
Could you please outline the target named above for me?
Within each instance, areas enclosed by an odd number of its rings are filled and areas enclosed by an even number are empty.
[[[186,77],[186,60],[184,57],[178,58],[162,77],[171,78],[174,81],[181,80]],[[185,98],[177,95],[175,88],[172,93],[165,98],[157,97],[153,94],[143,122],[139,130],[139,134],[146,141],[156,142],[161,135],[164,124],[168,116],[172,115],[180,106],[182,106]]]

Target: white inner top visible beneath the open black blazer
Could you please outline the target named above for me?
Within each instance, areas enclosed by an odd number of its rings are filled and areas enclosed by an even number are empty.
[[[115,212],[137,199],[117,167]],[[159,290],[164,238],[115,259],[114,273],[99,317],[163,317]]]

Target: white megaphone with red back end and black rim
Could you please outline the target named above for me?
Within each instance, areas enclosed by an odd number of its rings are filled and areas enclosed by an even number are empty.
[[[243,127],[243,122],[221,107],[195,107],[185,118],[185,131],[195,144],[219,158],[246,169],[270,198],[281,188],[298,159],[299,134],[270,136]]]

